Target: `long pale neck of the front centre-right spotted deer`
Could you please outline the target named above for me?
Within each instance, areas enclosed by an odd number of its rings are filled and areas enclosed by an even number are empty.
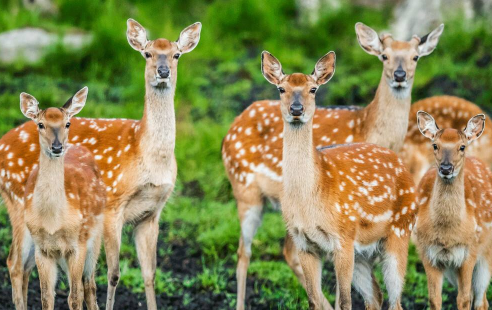
[[[284,123],[283,140],[283,196],[295,208],[308,207],[319,189],[312,119],[301,126]]]

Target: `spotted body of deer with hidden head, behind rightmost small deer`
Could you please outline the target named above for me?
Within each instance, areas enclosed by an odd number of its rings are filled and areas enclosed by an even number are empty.
[[[399,156],[413,174],[415,183],[422,179],[434,162],[432,147],[420,133],[415,118],[420,110],[433,115],[442,128],[464,128],[471,116],[484,113],[482,109],[470,101],[453,96],[435,96],[412,104],[408,133],[405,136],[405,143]],[[492,122],[488,118],[485,123],[486,127],[492,128]],[[489,152],[491,147],[492,133],[485,132],[479,140],[467,147],[466,153],[479,158],[487,166],[492,167],[492,152]]]

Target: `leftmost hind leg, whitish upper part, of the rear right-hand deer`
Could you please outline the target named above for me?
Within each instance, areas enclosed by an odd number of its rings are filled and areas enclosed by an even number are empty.
[[[251,257],[251,245],[256,235],[258,227],[261,225],[263,214],[263,203],[261,199],[259,204],[246,204],[238,200],[239,219],[241,221],[241,238],[239,239],[239,249],[237,251],[237,304],[236,309],[244,309],[244,300],[246,298],[246,278]]]

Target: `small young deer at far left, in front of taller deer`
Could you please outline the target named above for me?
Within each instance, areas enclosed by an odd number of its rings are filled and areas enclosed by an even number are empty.
[[[16,218],[14,213],[12,226],[16,226],[15,231],[26,232],[27,228],[30,234],[31,247],[22,260],[31,266],[33,260],[36,263],[43,309],[54,309],[57,263],[68,273],[70,309],[83,309],[84,300],[87,309],[99,309],[94,273],[106,190],[92,153],[83,146],[68,144],[70,119],[84,107],[87,92],[84,87],[62,108],[46,110],[39,109],[32,95],[20,95],[22,113],[39,131],[39,165],[26,183],[23,217]],[[15,234],[13,243],[22,247]],[[17,273],[16,265],[10,262],[12,286],[21,287],[22,273]],[[21,299],[14,298],[18,309],[22,308]]]

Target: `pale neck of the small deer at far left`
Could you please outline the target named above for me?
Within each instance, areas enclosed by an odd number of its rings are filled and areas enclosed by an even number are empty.
[[[67,208],[65,156],[49,157],[41,151],[32,206],[45,227],[55,229]]]

